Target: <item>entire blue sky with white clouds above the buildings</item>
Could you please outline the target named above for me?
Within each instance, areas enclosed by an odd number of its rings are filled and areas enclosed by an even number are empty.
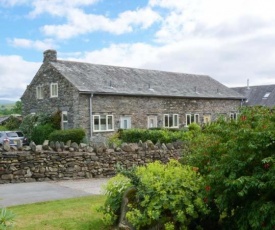
[[[1,0],[0,99],[18,100],[43,60],[275,84],[272,0]]]

